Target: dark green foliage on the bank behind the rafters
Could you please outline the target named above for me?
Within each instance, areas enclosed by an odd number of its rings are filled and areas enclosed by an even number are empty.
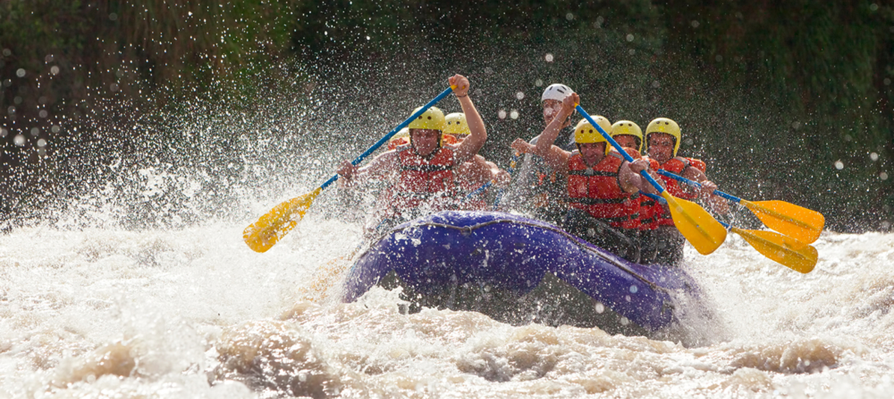
[[[591,114],[678,121],[681,153],[725,191],[820,210],[838,231],[894,220],[890,1],[2,0],[0,51],[6,217],[103,181],[85,169],[164,157],[158,137],[182,133],[158,115],[196,102],[250,117],[280,98],[278,117],[301,109],[320,126],[381,115],[371,131],[384,134],[460,72],[503,166],[561,81]],[[519,119],[498,117],[510,110]],[[333,134],[346,152],[371,143]]]

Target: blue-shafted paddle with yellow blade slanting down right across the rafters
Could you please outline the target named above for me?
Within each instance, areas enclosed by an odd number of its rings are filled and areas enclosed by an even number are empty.
[[[605,140],[611,143],[611,145],[624,156],[624,159],[627,159],[630,163],[633,162],[633,157],[630,157],[627,151],[620,147],[618,141],[612,139],[611,135],[605,132],[603,128],[599,126],[599,123],[596,123],[593,120],[593,117],[584,111],[583,107],[578,105],[575,109],[577,109],[578,113],[583,115],[584,118],[586,118],[586,121],[592,124],[593,127],[603,135]],[[641,171],[640,174],[645,177],[645,180],[652,183],[655,190],[657,190],[664,200],[668,202],[668,208],[671,209],[671,218],[673,218],[674,225],[676,225],[679,232],[686,237],[687,241],[691,243],[693,247],[696,247],[698,253],[707,255],[714,250],[717,250],[723,241],[726,240],[726,229],[717,221],[717,219],[714,219],[714,216],[711,216],[708,211],[704,210],[704,208],[695,202],[674,198],[670,192],[664,190],[661,184],[656,182],[645,170]]]

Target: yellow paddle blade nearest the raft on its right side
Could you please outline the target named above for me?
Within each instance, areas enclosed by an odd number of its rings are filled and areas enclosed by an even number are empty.
[[[662,191],[662,197],[668,201],[673,224],[698,253],[707,255],[726,240],[726,228],[704,208],[695,202],[674,198],[668,191]]]

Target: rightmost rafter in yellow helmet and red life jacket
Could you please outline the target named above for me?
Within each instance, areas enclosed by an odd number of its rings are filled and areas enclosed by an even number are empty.
[[[727,213],[729,204],[726,200],[713,195],[717,185],[708,180],[704,162],[701,159],[678,155],[680,141],[682,132],[679,124],[669,118],[655,118],[645,127],[645,152],[648,157],[654,159],[659,168],[701,183],[702,187],[695,189],[663,175],[660,182],[674,197],[684,200],[704,198],[711,203],[715,211]],[[659,262],[679,265],[683,260],[683,245],[686,239],[674,225],[667,205],[654,203],[653,207],[655,223],[647,240],[650,242],[649,246],[657,251],[656,259]]]

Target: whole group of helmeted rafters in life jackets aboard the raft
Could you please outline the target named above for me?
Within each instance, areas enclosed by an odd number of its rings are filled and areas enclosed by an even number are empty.
[[[468,97],[468,79],[454,75],[449,81],[460,101],[461,114],[445,116],[431,107],[409,123],[409,132],[392,138],[389,150],[367,166],[345,161],[338,169],[343,189],[356,188],[359,183],[381,188],[378,209],[367,223],[369,236],[441,210],[483,210],[488,208],[485,196],[475,195],[481,187],[489,182],[497,190],[509,185],[509,173],[477,155],[487,132]],[[708,180],[704,162],[678,155],[682,137],[679,125],[671,119],[654,119],[644,134],[637,123],[612,124],[595,115],[594,121],[634,159],[627,162],[586,119],[568,129],[580,102],[568,86],[550,85],[541,100],[544,131],[530,141],[517,139],[511,144],[517,154],[526,156],[515,190],[503,201],[505,208],[560,225],[625,259],[671,266],[682,261],[685,239],[674,226],[667,205],[643,194],[658,191],[641,171],[652,175],[674,197],[703,198],[715,211],[728,211],[726,201],[713,195],[717,186]],[[681,185],[657,174],[659,169],[701,183],[701,188]]]

